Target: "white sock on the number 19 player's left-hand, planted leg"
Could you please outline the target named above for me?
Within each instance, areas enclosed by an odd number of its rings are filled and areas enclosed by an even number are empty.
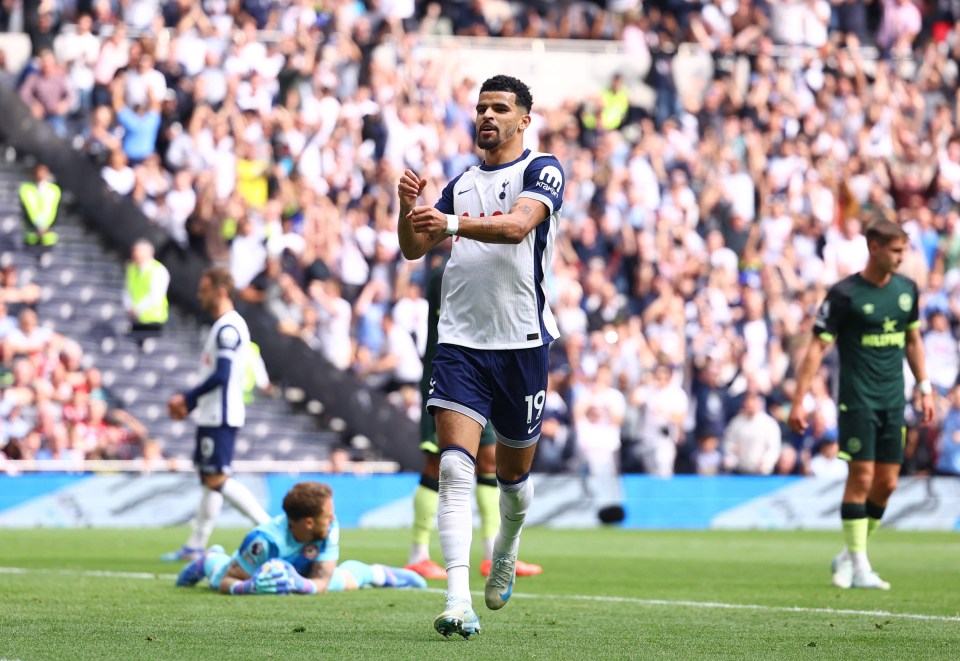
[[[440,456],[440,505],[437,530],[447,567],[447,600],[470,598],[470,543],[473,541],[471,509],[476,465],[460,450],[446,450]]]

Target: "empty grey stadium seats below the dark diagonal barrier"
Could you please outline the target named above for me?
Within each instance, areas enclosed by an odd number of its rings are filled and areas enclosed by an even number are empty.
[[[57,220],[60,242],[49,262],[20,250],[17,186],[25,176],[20,165],[0,165],[0,249],[25,282],[42,287],[37,306],[41,323],[80,344],[84,367],[101,370],[104,386],[117,404],[147,426],[166,456],[189,458],[193,426],[167,418],[166,402],[173,392],[196,383],[194,368],[204,329],[172,308],[164,333],[141,350],[127,336],[122,258],[69,211],[62,210]],[[68,195],[64,202],[69,210]],[[318,428],[316,416],[297,412],[282,399],[259,396],[247,409],[237,459],[322,460],[339,440],[339,434]]]

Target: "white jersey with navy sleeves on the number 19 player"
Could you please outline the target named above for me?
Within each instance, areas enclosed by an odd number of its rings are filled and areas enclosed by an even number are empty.
[[[563,204],[564,177],[552,154],[524,151],[498,166],[473,166],[447,184],[436,208],[471,218],[503,215],[518,198],[549,217],[517,245],[453,238],[443,274],[438,341],[472,349],[524,349],[560,336],[544,294]]]

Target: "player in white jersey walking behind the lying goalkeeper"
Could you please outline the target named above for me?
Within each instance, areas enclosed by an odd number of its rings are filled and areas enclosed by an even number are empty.
[[[197,410],[197,447],[193,460],[200,471],[203,494],[186,545],[162,556],[168,562],[194,560],[203,554],[224,498],[255,524],[270,520],[250,490],[229,477],[237,431],[243,426],[243,374],[250,355],[247,322],[233,307],[233,278],[225,269],[208,269],[200,276],[197,298],[216,321],[203,345],[201,378],[196,388],[170,398],[174,420]]]

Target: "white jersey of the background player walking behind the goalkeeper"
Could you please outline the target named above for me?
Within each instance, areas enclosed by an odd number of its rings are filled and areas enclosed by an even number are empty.
[[[250,330],[240,313],[231,310],[210,328],[200,357],[200,383],[217,369],[217,359],[231,361],[226,387],[217,387],[197,399],[194,420],[201,427],[242,427],[246,420],[243,374],[250,356]]]

